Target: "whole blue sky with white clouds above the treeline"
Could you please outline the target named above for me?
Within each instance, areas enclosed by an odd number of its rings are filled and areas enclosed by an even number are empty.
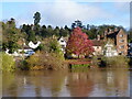
[[[3,0],[0,2],[0,21],[14,18],[18,26],[33,24],[36,11],[41,13],[41,25],[70,26],[75,20],[80,20],[84,25],[114,24],[130,28],[129,0]]]

